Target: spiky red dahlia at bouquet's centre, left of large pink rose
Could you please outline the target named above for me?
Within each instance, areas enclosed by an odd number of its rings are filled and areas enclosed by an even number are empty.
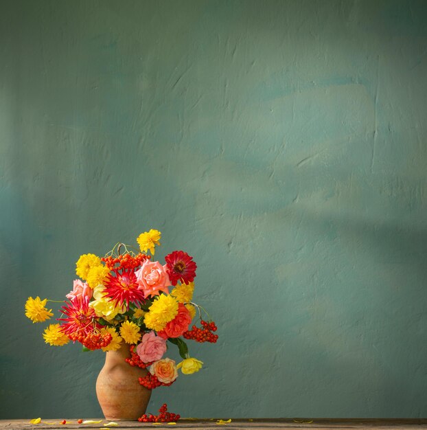
[[[108,280],[105,282],[105,297],[114,301],[115,306],[123,306],[125,303],[129,306],[129,302],[145,301],[144,292],[139,289],[134,269],[123,270],[122,273],[115,269],[113,272],[114,275],[108,275]]]

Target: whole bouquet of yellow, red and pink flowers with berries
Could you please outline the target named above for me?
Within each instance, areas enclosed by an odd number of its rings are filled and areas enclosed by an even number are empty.
[[[204,308],[192,302],[197,268],[193,258],[173,251],[165,264],[154,261],[160,238],[160,231],[151,229],[137,238],[140,249],[117,243],[102,258],[80,256],[76,262],[80,279],[63,301],[59,322],[45,329],[45,343],[63,346],[78,341],[84,350],[103,351],[125,345],[128,364],[148,369],[147,376],[139,378],[148,389],[171,385],[178,369],[183,374],[198,372],[203,362],[189,356],[185,340],[216,343],[217,327]],[[33,323],[53,317],[47,302],[54,300],[29,297],[25,315]],[[190,328],[197,313],[200,327]],[[168,341],[178,347],[183,359],[178,365],[163,357]]]

